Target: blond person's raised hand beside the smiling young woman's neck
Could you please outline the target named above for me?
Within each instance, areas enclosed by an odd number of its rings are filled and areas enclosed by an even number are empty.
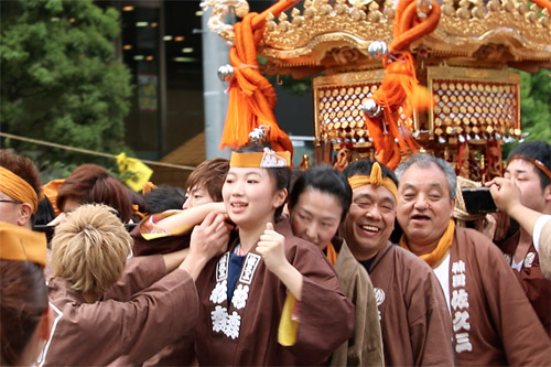
[[[188,266],[194,263],[201,270],[213,257],[223,253],[229,240],[229,228],[225,223],[224,214],[212,212],[201,225],[195,226],[190,239],[190,255],[182,262],[182,268],[190,273],[197,269],[191,269]],[[192,273],[192,276],[194,276]],[[195,278],[195,277],[194,277]]]

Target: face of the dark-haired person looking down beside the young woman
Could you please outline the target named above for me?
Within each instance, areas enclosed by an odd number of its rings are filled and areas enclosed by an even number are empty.
[[[338,230],[342,214],[335,195],[307,187],[291,209],[293,234],[324,250]]]

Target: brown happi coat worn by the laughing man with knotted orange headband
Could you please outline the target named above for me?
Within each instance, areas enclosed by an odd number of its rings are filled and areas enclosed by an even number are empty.
[[[385,364],[453,366],[450,313],[432,269],[389,241],[368,271],[380,312]]]

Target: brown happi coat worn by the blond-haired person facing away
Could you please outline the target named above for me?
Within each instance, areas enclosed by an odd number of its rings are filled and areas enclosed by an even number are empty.
[[[145,271],[132,267],[142,261],[148,261]],[[50,280],[54,316],[39,366],[140,365],[190,332],[198,306],[190,274],[176,269],[161,278],[161,256],[131,262],[131,270],[95,303],[86,303],[67,280]]]

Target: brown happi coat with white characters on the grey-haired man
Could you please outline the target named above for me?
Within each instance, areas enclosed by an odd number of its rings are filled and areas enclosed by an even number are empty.
[[[456,228],[450,303],[457,366],[550,366],[551,342],[499,248]]]

